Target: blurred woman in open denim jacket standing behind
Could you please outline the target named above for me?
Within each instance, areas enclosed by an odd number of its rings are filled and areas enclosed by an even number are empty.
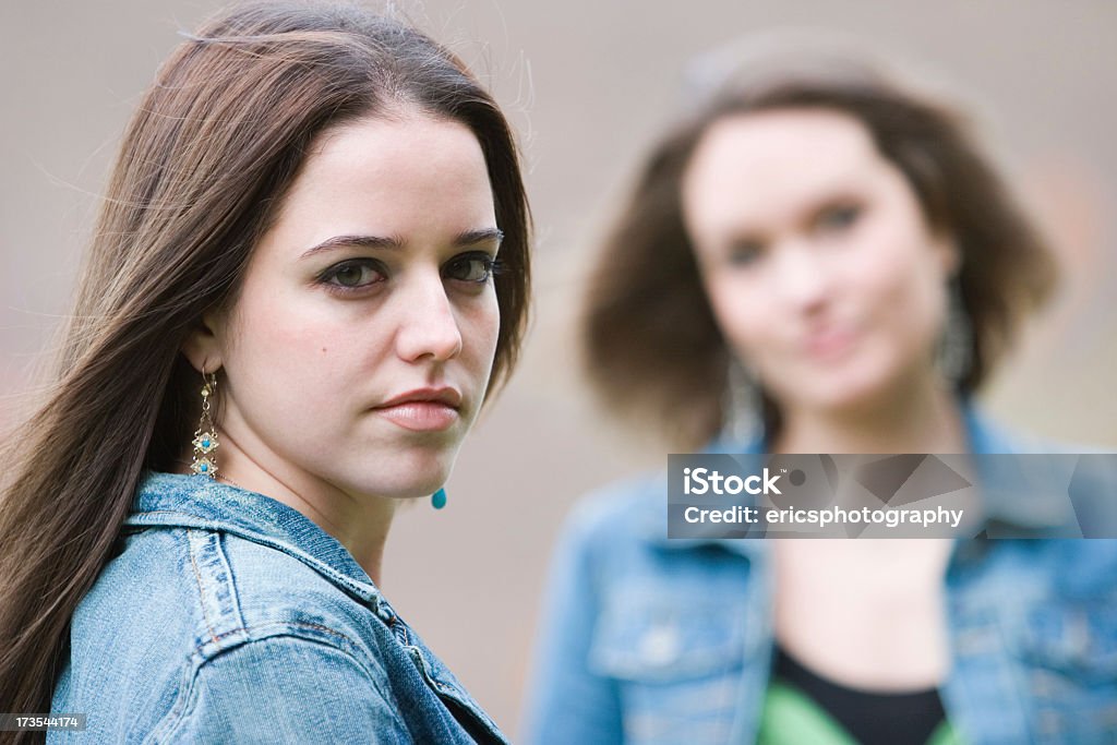
[[[955,108],[795,50],[742,65],[652,149],[593,276],[586,365],[676,452],[1012,452],[973,395],[1052,281]],[[666,531],[665,474],[571,516],[527,742],[1117,730],[1114,542]]]

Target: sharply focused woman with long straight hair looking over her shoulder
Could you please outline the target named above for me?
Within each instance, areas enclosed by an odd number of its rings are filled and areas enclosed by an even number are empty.
[[[0,710],[89,743],[506,742],[379,585],[516,361],[528,233],[507,121],[419,31],[259,2],[188,36],[6,459]]]

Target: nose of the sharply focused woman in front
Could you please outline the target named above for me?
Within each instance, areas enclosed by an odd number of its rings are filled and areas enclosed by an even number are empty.
[[[408,362],[445,362],[461,351],[461,329],[441,277],[423,277],[397,297],[397,351]]]

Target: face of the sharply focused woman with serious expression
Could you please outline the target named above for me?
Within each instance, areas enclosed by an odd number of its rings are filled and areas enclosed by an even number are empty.
[[[491,370],[498,247],[466,126],[413,114],[326,132],[211,324],[226,441],[288,485],[431,494]]]

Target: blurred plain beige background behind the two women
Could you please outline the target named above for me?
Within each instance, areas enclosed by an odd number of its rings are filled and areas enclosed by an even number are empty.
[[[220,3],[0,6],[0,424],[73,293],[116,142],[159,63]],[[574,366],[592,241],[669,121],[688,58],[781,27],[853,32],[974,102],[1054,236],[1062,293],[989,408],[1117,447],[1117,3],[750,0],[397,3],[488,82],[518,128],[537,222],[535,323],[513,383],[464,448],[449,506],[405,510],[384,590],[512,735],[551,542],[579,494],[663,452],[611,428]],[[18,432],[16,433],[18,436]]]

